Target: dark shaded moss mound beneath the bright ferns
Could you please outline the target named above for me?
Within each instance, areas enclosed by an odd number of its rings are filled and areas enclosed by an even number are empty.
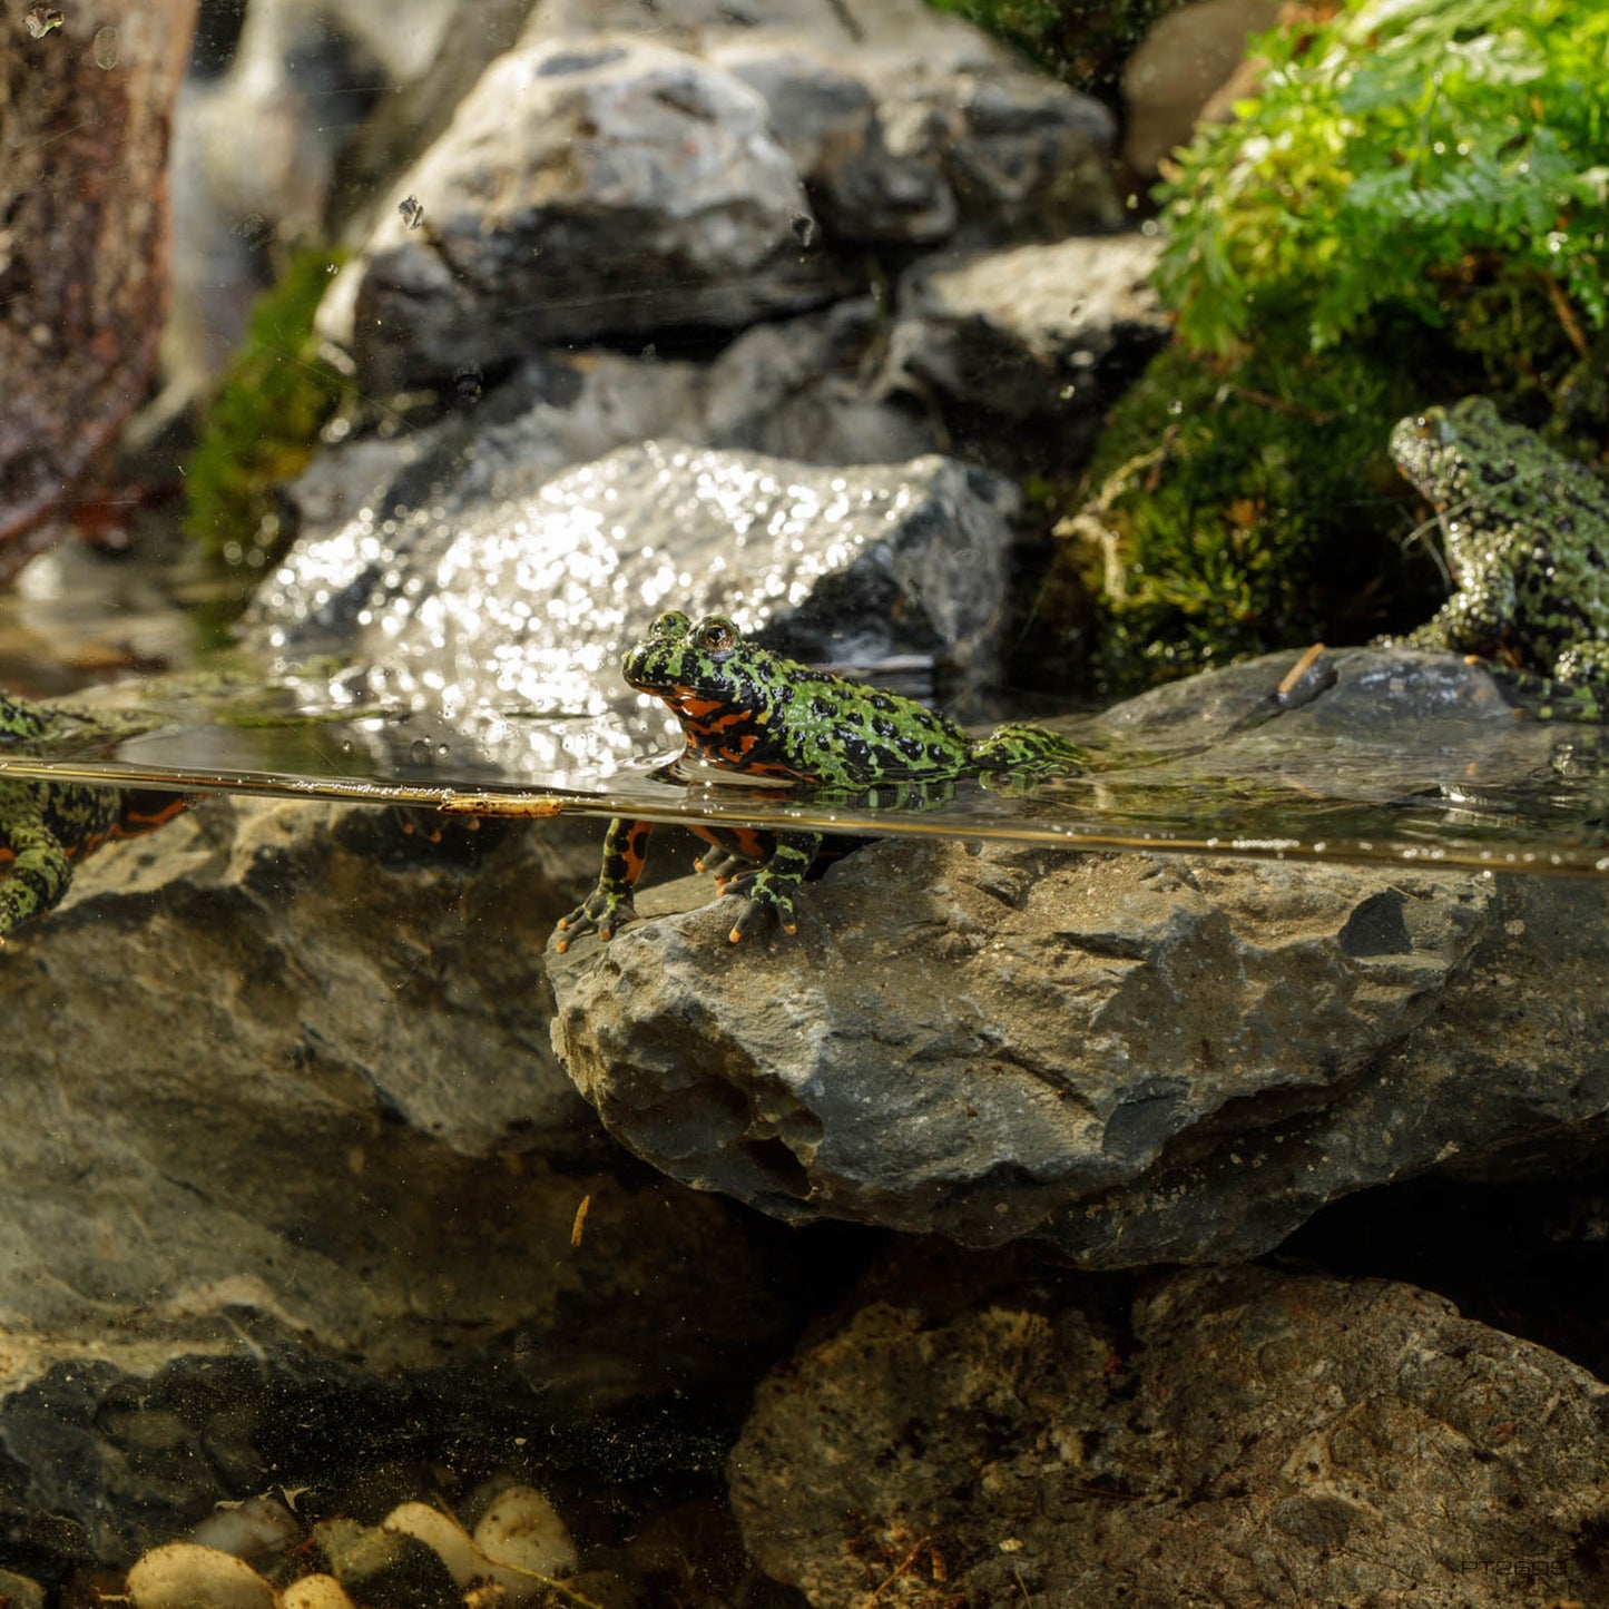
[[[1411,336],[1406,338],[1411,352]],[[1104,695],[1315,640],[1358,642],[1434,608],[1405,552],[1413,497],[1385,444],[1418,404],[1403,336],[1236,364],[1171,346],[1117,405],[1062,523],[1097,597]]]

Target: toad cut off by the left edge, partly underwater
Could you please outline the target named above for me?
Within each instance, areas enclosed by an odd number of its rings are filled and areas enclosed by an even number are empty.
[[[93,716],[0,693],[0,753],[98,727]],[[13,928],[61,904],[76,861],[109,838],[154,832],[183,806],[182,793],[154,788],[0,779],[0,944]]]

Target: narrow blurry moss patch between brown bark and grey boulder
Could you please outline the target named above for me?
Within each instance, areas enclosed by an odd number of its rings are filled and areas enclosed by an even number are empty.
[[[241,594],[290,534],[275,488],[301,471],[343,397],[346,383],[312,333],[338,264],[330,251],[298,251],[257,298],[185,465],[185,531]]]

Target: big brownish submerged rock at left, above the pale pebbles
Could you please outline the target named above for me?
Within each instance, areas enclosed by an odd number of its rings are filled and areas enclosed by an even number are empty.
[[[563,833],[467,874],[209,800],[0,953],[10,1558],[132,1558],[460,1419],[508,1456],[780,1344],[785,1249],[623,1168],[544,1047],[578,880]]]

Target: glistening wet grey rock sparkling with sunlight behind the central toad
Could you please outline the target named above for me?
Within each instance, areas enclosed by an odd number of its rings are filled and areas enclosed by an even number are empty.
[[[520,500],[364,510],[291,550],[257,618],[285,661],[352,666],[315,702],[462,718],[504,764],[560,780],[671,737],[615,673],[666,608],[800,658],[920,655],[988,681],[1015,507],[949,459],[827,470],[650,441]],[[531,713],[568,726],[504,719]]]

